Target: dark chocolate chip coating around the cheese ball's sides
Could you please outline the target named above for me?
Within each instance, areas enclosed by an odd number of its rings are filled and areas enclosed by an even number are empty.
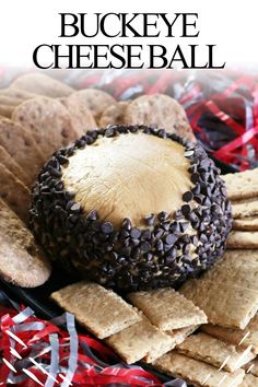
[[[98,137],[131,132],[180,143],[194,183],[173,216],[165,210],[146,213],[143,227],[132,225],[130,214],[115,226],[108,219],[102,222],[95,209],[85,213],[74,192],[66,191],[62,184],[62,165],[69,167],[77,150],[91,146]],[[69,272],[125,292],[176,288],[209,269],[223,254],[232,225],[224,183],[204,150],[174,133],[145,126],[87,131],[73,145],[52,155],[32,194],[31,227],[48,255]]]

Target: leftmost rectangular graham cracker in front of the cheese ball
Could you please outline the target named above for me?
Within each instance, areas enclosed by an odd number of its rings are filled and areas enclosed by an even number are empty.
[[[63,309],[99,339],[119,332],[141,320],[129,304],[97,283],[81,281],[51,294]]]

